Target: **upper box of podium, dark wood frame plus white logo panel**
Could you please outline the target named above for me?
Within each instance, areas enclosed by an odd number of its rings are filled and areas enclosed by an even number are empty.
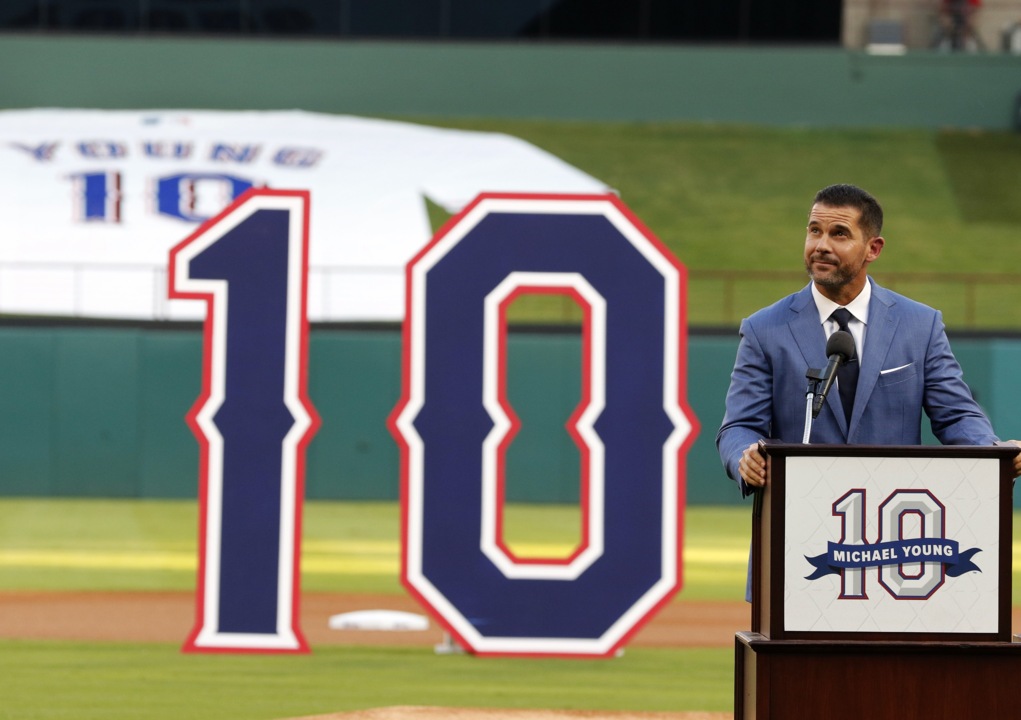
[[[1011,477],[978,449],[769,448],[753,629],[1009,640]]]

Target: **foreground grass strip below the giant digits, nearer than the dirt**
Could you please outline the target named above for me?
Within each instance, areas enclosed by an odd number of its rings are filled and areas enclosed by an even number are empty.
[[[733,651],[628,649],[609,660],[330,646],[308,656],[0,640],[3,720],[274,720],[393,705],[729,711]]]

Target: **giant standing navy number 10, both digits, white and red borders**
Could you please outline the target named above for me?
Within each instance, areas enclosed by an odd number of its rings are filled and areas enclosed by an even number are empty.
[[[308,195],[251,190],[174,248],[172,296],[207,304],[198,621],[190,651],[307,650],[297,627]],[[480,196],[408,266],[403,580],[480,654],[612,655],[680,587],[683,268],[613,196]],[[501,536],[514,439],[505,310],[583,305],[585,537],[567,561]],[[427,333],[428,328],[428,333]]]

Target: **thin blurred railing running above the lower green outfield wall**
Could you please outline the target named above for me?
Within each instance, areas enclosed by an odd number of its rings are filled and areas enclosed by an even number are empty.
[[[941,310],[950,328],[1021,331],[1021,281],[1014,275],[877,272],[874,277],[884,287]],[[0,263],[0,315],[171,320],[166,280],[165,266]],[[351,283],[364,287],[367,282],[396,287],[403,283],[403,270],[396,266],[310,269],[311,319],[320,320],[312,317],[315,308],[331,306],[331,297],[344,294]],[[688,325],[737,327],[742,318],[806,284],[808,277],[798,271],[689,269]],[[97,288],[105,301],[95,300]],[[510,310],[510,320],[517,323],[577,324],[580,319],[578,304],[560,295],[524,296]]]

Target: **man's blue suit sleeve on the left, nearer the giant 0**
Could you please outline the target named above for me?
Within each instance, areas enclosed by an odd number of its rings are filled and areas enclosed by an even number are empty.
[[[726,412],[716,436],[716,446],[727,475],[737,481],[743,494],[748,494],[750,489],[744,486],[737,466],[748,445],[770,436],[773,371],[747,320],[741,323],[737,359],[730,375]]]

